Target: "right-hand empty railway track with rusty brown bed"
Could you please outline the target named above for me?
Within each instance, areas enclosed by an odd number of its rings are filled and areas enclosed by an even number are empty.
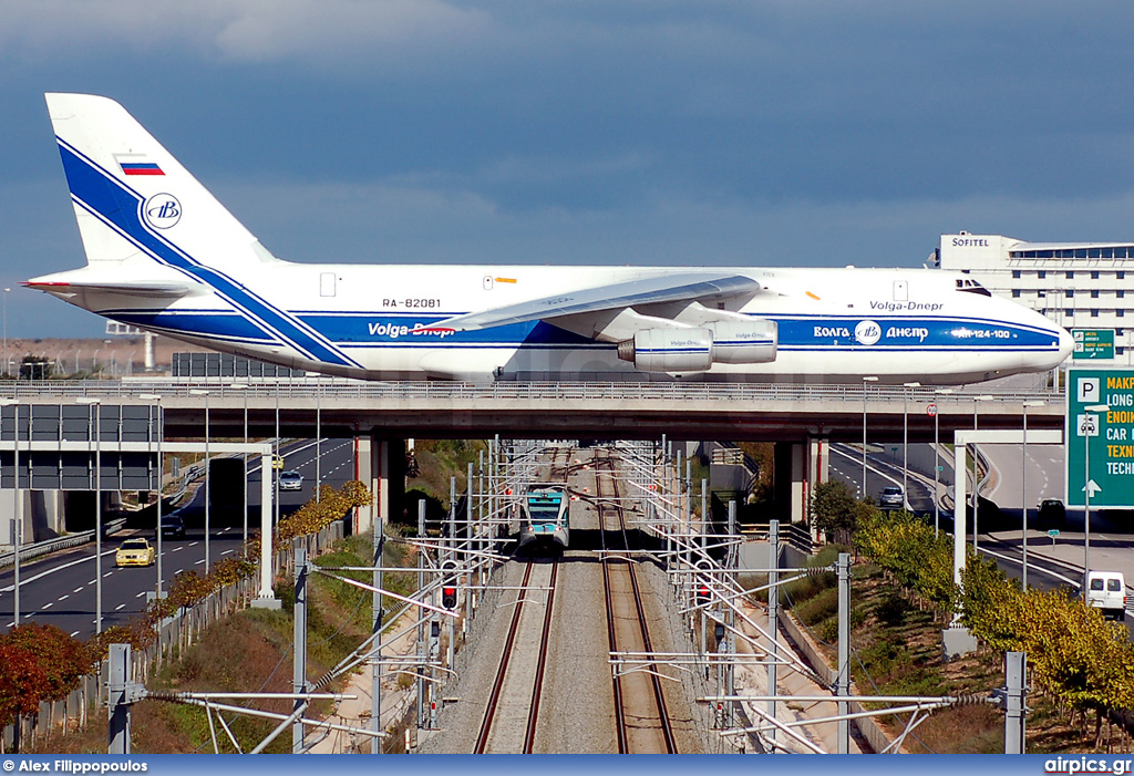
[[[607,608],[607,637],[610,651],[653,651],[646,624],[642,591],[634,563],[628,558],[612,558],[610,551],[628,551],[629,542],[621,506],[617,501],[618,483],[613,477],[613,461],[608,457],[595,459],[595,501],[599,513],[599,536],[602,542],[602,579]],[[608,522],[613,527],[608,529]],[[621,542],[608,540],[620,536]],[[611,547],[611,544],[620,546]],[[655,672],[635,672],[613,675],[615,724],[618,752],[677,753],[677,743],[666,708],[661,679]]]

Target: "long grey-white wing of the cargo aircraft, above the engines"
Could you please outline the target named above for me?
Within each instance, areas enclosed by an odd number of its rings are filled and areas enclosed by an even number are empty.
[[[706,298],[755,293],[763,287],[745,275],[721,272],[683,272],[646,278],[612,285],[567,291],[543,299],[523,301],[439,321],[430,329],[476,331],[513,323],[548,321],[586,313],[602,313],[667,301],[693,301]]]

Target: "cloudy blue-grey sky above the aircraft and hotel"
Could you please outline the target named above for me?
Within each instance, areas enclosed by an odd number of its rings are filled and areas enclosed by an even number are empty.
[[[16,288],[84,262],[43,92],[112,96],[299,262],[920,265],[1134,239],[1134,3],[5,0]]]

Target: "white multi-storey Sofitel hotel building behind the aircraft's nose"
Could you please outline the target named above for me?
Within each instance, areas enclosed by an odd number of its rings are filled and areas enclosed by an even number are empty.
[[[1068,331],[1115,331],[1115,366],[1134,358],[1134,242],[1024,242],[1001,234],[941,234],[931,257]],[[1102,366],[1098,361],[1092,365]]]

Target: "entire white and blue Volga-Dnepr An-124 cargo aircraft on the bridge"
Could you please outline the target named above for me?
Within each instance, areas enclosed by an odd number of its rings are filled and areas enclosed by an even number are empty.
[[[1072,350],[939,270],[293,264],[113,100],[46,101],[87,261],[26,284],[214,350],[365,380],[937,384]]]

